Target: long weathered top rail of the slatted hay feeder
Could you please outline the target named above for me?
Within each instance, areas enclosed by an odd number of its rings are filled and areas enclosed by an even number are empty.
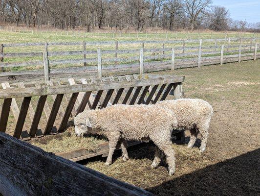
[[[122,82],[102,82],[102,83],[91,83],[91,84],[76,84],[76,85],[59,85],[59,86],[42,86],[40,88],[28,87],[25,89],[0,89],[0,98],[21,98],[21,97],[33,97],[43,95],[57,95],[64,93],[78,93],[86,91],[97,91],[97,90],[109,90],[119,88],[130,88],[138,86],[147,86],[155,84],[166,84],[182,82],[183,76],[173,76],[164,78],[152,78],[142,80],[131,80]]]

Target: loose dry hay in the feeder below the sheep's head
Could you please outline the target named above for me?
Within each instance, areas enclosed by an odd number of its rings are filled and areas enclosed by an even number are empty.
[[[48,152],[65,152],[79,148],[85,148],[91,152],[99,150],[98,144],[104,143],[107,140],[99,136],[77,137],[75,135],[74,127],[68,127],[64,136],[61,139],[52,139],[46,144],[33,142],[32,145],[41,147]]]

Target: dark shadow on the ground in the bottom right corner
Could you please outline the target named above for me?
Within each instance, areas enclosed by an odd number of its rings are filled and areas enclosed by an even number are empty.
[[[147,189],[158,196],[260,195],[260,148]]]

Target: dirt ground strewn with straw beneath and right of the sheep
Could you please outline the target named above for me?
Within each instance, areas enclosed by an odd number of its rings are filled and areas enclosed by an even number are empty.
[[[169,176],[165,161],[152,169],[152,144],[130,147],[130,160],[121,152],[111,166],[96,157],[81,164],[158,196],[256,196],[260,194],[260,60],[188,68],[155,74],[185,75],[185,98],[202,98],[214,108],[206,151],[173,144],[176,173]]]

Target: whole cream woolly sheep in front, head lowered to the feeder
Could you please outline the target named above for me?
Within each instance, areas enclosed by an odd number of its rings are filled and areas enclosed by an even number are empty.
[[[99,134],[108,138],[109,152],[105,163],[112,163],[112,155],[118,141],[121,142],[123,160],[128,160],[126,140],[152,141],[164,154],[169,174],[175,172],[175,157],[172,148],[172,130],[177,125],[176,117],[167,108],[156,105],[112,105],[103,109],[88,110],[74,119],[76,136]],[[154,159],[151,167],[159,165]]]

